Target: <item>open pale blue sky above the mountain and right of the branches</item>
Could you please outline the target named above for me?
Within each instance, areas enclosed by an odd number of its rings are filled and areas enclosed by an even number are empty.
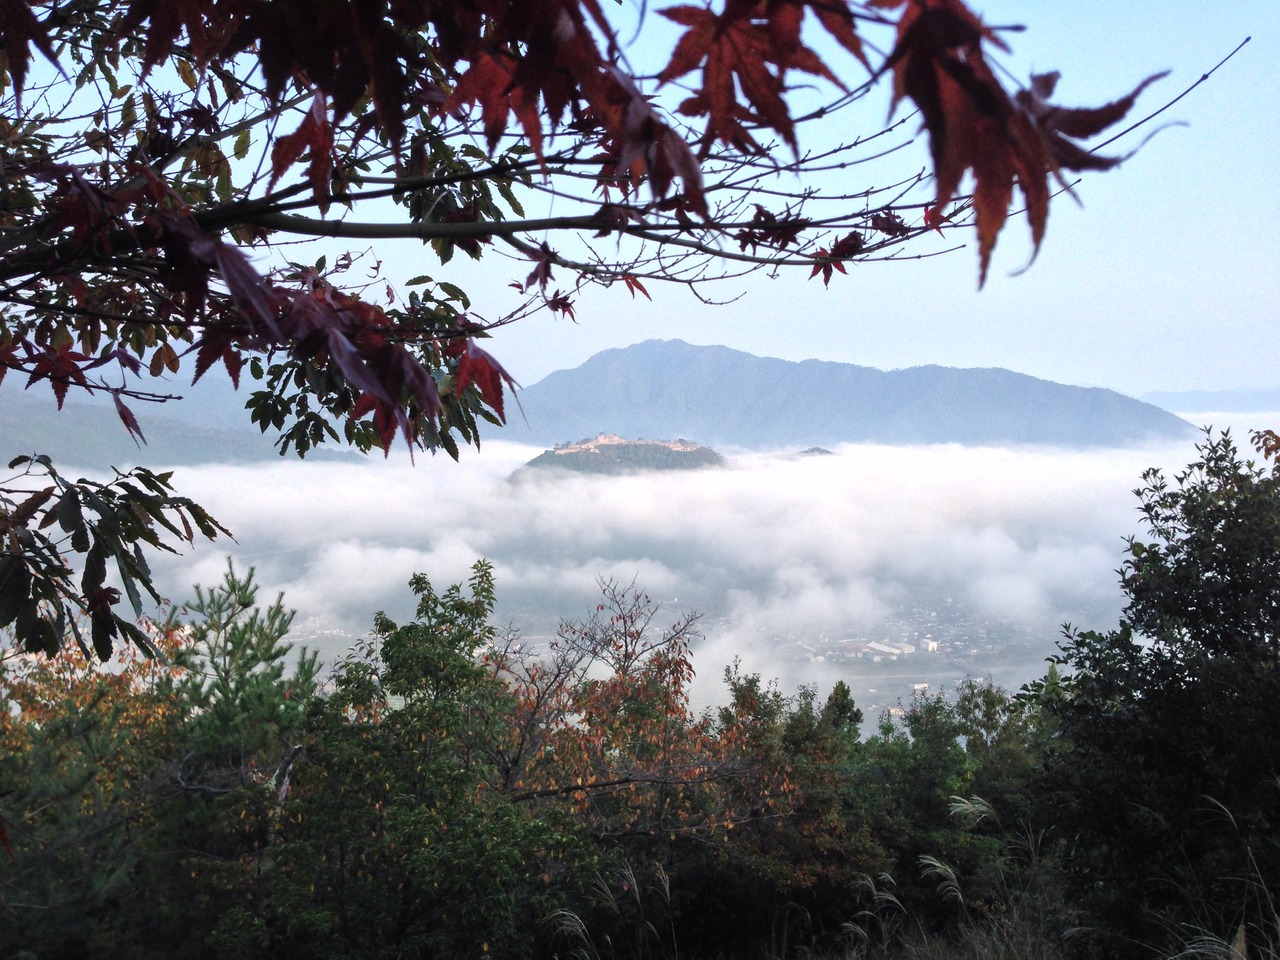
[[[581,300],[576,323],[539,317],[499,332],[494,353],[526,384],[657,337],[884,369],[1002,366],[1129,394],[1280,387],[1272,237],[1280,224],[1280,6],[1076,0],[975,9],[988,23],[1027,27],[1009,35],[1012,52],[1001,63],[1018,78],[1060,70],[1064,105],[1101,105],[1170,69],[1134,116],[1252,41],[1160,118],[1187,125],[1165,129],[1121,168],[1085,177],[1080,205],[1059,197],[1038,260],[1018,275],[1025,224],[1011,220],[980,293],[972,246],[922,262],[859,266],[826,291],[803,271],[751,278],[722,288],[742,296],[719,307],[680,289],[650,289],[654,303],[599,291]],[[887,90],[873,99],[876,111],[887,108]],[[925,161],[923,136],[910,151],[900,155],[904,168]],[[451,276],[481,302],[486,287],[520,274],[518,265],[486,261]]]

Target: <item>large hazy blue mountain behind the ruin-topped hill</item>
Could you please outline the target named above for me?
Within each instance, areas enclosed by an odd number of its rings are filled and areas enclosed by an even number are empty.
[[[506,436],[553,444],[598,433],[746,448],[876,443],[1115,445],[1193,436],[1172,413],[1114,390],[1009,370],[883,371],[728,347],[646,340],[598,353],[520,394]]]

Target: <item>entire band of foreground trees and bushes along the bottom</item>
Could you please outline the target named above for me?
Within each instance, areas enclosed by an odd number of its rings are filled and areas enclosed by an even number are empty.
[[[634,588],[535,657],[483,562],[324,682],[230,568],[163,659],[8,658],[0,954],[1274,956],[1280,471],[1199,454],[1116,630],[869,736],[736,666],[692,713],[696,618]]]

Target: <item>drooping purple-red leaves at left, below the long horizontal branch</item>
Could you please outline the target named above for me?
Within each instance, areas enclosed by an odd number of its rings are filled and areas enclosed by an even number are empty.
[[[319,109],[307,123],[312,131],[323,125]],[[305,124],[306,127],[306,124]],[[307,133],[311,136],[311,133]],[[303,147],[291,138],[285,152]],[[307,141],[312,155],[317,142]],[[342,293],[311,278],[301,288],[289,289],[265,278],[236,246],[209,233],[189,211],[161,211],[173,207],[175,197],[155,177],[140,178],[140,186],[120,193],[108,193],[87,183],[79,170],[56,168],[45,174],[54,184],[56,224],[67,239],[50,253],[41,255],[72,269],[77,251],[138,250],[155,253],[159,275],[172,298],[164,303],[161,320],[180,317],[195,324],[198,334],[188,352],[195,353],[195,380],[221,362],[238,385],[244,352],[285,348],[292,357],[312,366],[329,367],[352,389],[353,419],[372,415],[378,440],[388,449],[397,431],[412,443],[411,415],[436,421],[443,404],[435,380],[422,360],[411,349],[421,343],[417,329],[396,328],[376,305]],[[122,229],[122,218],[133,219]],[[60,262],[67,250],[72,257]],[[221,279],[227,296],[214,296],[211,282]],[[77,288],[74,283],[69,288]],[[393,329],[394,328],[394,329]],[[428,334],[428,339],[434,335]],[[447,356],[457,357],[462,370],[457,379],[461,394],[471,383],[499,419],[503,417],[502,384],[512,379],[486,352],[458,332]],[[154,355],[152,374],[161,367],[177,369],[178,356],[165,346]],[[104,365],[119,365],[132,374],[141,372],[137,356],[122,343],[93,356],[77,349],[70,340],[37,343],[9,339],[0,343],[0,380],[9,370],[27,372],[27,384],[47,380],[61,407],[72,385],[93,389],[87,371]],[[120,392],[114,392],[116,411],[125,429],[140,440],[142,430]]]

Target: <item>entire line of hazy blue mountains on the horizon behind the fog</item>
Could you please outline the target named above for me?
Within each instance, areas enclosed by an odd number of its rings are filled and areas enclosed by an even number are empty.
[[[77,465],[273,460],[278,454],[271,435],[248,422],[250,390],[246,385],[237,392],[216,378],[195,387],[174,384],[172,392],[184,399],[137,411],[148,440],[138,447],[105,398],[73,393],[68,411],[59,413],[47,394],[0,385],[0,439],[26,452],[38,436],[44,447],[38,452]],[[1220,402],[1217,408],[1239,408],[1231,407],[1230,396],[1213,394],[1212,399]],[[600,433],[652,440],[685,436],[721,452],[868,442],[1107,447],[1196,435],[1194,426],[1151,403],[1009,370],[920,366],[882,371],[756,357],[682,340],[604,351],[525,387],[517,401],[507,426],[493,438],[541,447]],[[324,447],[310,454],[316,460],[340,456],[348,454]]]

